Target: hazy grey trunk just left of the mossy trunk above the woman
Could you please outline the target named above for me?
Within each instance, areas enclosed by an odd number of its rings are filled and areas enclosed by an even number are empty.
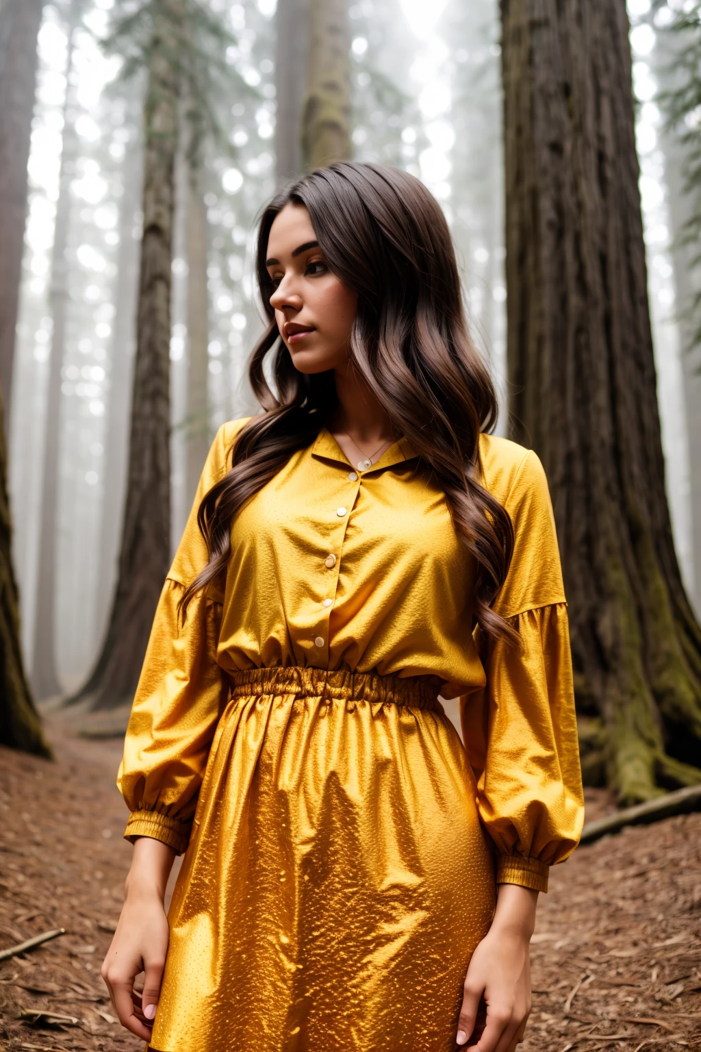
[[[309,66],[309,0],[283,0],[275,13],[275,164],[277,183],[300,176],[302,112]]]

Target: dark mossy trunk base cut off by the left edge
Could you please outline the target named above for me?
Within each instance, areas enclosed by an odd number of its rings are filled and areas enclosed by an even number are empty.
[[[20,645],[19,593],[12,559],[7,445],[0,392],[0,745],[50,756],[44,741]]]

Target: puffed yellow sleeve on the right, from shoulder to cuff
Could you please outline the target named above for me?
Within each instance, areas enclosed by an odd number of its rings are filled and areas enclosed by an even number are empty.
[[[517,629],[520,646],[476,630],[487,682],[461,699],[460,716],[497,882],[547,891],[550,867],[574,851],[583,824],[568,612],[548,483],[535,453],[504,482],[515,544],[494,606]]]

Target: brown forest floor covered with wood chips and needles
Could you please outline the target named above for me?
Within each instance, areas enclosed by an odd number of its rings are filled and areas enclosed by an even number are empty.
[[[120,743],[57,717],[47,729],[55,763],[0,750],[0,950],[66,934],[0,963],[0,1048],[141,1052],[100,977],[130,856]],[[609,809],[587,791],[587,818]],[[523,1052],[701,1052],[701,814],[579,848],[538,914]],[[32,1025],[22,1009],[75,1021]]]

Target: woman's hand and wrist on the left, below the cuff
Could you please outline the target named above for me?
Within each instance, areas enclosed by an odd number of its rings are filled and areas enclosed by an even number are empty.
[[[140,836],[124,888],[124,906],[102,965],[120,1023],[137,1037],[150,1040],[168,949],[165,887],[176,852],[166,844]],[[145,973],[141,994],[133,982]]]

